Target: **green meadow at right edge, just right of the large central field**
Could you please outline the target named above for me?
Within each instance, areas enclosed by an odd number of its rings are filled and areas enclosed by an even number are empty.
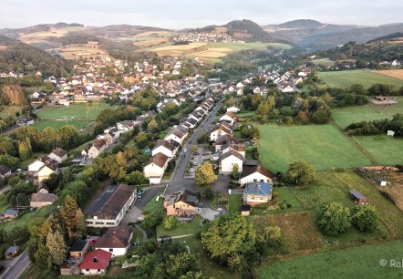
[[[403,139],[392,138],[387,135],[359,136],[355,139],[380,164],[403,164]]]

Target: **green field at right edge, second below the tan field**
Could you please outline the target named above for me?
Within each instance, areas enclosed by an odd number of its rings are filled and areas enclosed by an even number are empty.
[[[343,129],[351,123],[372,121],[376,119],[391,119],[395,114],[403,112],[403,98],[398,97],[398,103],[392,105],[352,106],[332,109],[332,118]]]

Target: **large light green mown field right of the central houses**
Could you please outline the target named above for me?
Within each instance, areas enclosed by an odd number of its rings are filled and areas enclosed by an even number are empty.
[[[285,172],[295,160],[317,170],[356,168],[370,160],[333,125],[260,126],[260,158],[270,171]]]

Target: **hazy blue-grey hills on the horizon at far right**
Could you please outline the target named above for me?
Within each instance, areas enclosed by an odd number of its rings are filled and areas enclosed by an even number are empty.
[[[384,26],[330,25],[311,19],[297,19],[280,25],[263,26],[269,34],[290,40],[312,50],[329,49],[349,41],[359,44],[379,36],[401,32],[403,24]]]

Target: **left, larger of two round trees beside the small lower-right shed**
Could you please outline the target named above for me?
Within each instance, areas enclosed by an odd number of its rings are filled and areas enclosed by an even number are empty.
[[[319,217],[319,227],[327,235],[344,233],[351,226],[351,216],[348,207],[339,202],[330,202],[322,207]]]

